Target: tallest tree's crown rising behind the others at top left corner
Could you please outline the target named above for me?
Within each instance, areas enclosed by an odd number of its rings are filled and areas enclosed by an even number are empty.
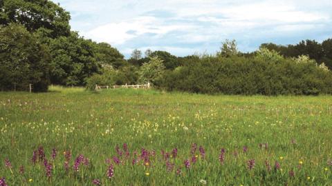
[[[49,30],[48,37],[70,34],[69,12],[48,0],[1,0],[0,24],[20,23],[30,32]]]

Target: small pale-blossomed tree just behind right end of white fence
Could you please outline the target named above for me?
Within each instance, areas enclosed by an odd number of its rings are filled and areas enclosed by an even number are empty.
[[[138,81],[156,85],[163,78],[164,70],[163,60],[159,59],[158,56],[151,57],[149,63],[144,63],[140,67]]]

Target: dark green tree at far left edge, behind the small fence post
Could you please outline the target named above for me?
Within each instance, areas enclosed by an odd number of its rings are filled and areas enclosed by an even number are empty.
[[[1,90],[48,90],[50,54],[46,45],[23,25],[0,27],[0,88]]]

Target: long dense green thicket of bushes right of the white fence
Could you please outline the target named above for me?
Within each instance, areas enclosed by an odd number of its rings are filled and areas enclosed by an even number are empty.
[[[307,95],[331,94],[331,82],[331,71],[307,57],[284,59],[261,48],[252,58],[196,56],[168,72],[160,88],[205,94]]]

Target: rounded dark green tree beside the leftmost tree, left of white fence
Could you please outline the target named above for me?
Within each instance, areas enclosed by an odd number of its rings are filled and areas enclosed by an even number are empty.
[[[95,43],[71,32],[50,42],[52,55],[50,80],[59,85],[85,85],[85,79],[99,72]]]

